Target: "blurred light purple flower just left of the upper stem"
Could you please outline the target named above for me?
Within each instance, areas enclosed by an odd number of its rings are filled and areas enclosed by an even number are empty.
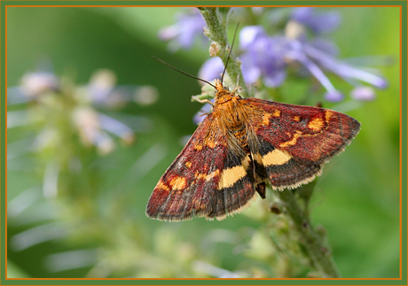
[[[172,40],[172,50],[178,48],[188,50],[192,47],[195,38],[200,36],[203,41],[208,40],[203,34],[204,27],[206,27],[206,22],[200,11],[196,8],[188,9],[177,15],[176,24],[161,28],[159,38],[162,41]]]

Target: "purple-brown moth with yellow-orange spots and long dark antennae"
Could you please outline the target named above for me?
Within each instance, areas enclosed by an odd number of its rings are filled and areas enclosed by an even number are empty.
[[[341,112],[242,98],[224,87],[224,73],[215,85],[205,81],[216,89],[212,112],[153,189],[148,217],[224,220],[265,198],[267,182],[279,191],[311,182],[360,130]]]

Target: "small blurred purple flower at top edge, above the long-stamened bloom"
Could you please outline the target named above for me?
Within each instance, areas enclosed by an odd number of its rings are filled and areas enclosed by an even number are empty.
[[[302,25],[309,27],[315,34],[333,31],[340,24],[338,12],[316,12],[314,7],[299,7],[292,12],[291,18]]]

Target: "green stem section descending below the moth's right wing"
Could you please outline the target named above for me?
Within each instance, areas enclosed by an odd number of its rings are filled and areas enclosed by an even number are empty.
[[[323,241],[323,237],[312,228],[308,215],[297,203],[294,192],[290,189],[278,191],[280,200],[286,205],[286,212],[294,222],[294,228],[300,236],[309,259],[325,278],[339,278],[340,274],[333,261],[332,253]]]

